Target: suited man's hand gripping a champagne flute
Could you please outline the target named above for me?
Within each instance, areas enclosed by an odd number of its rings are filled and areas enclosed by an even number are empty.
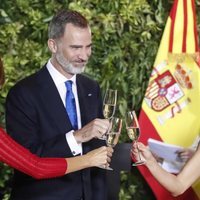
[[[93,138],[100,138],[109,128],[109,120],[94,119],[82,129],[74,132],[77,143],[88,142]]]

